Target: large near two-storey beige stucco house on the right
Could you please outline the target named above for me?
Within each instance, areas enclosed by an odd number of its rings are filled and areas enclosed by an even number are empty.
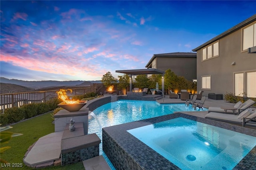
[[[197,90],[256,98],[256,14],[196,47]]]

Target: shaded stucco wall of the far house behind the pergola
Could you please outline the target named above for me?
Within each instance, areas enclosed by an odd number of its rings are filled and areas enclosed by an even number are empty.
[[[177,76],[196,79],[196,57],[156,57],[156,68],[162,71],[170,68]]]

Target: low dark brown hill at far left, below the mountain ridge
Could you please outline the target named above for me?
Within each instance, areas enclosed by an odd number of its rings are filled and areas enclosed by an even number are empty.
[[[34,90],[34,89],[16,85],[16,84],[0,83],[0,94],[28,92],[28,91],[32,91],[32,90]]]

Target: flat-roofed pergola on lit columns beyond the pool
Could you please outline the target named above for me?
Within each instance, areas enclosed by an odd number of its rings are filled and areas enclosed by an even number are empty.
[[[116,72],[130,74],[130,92],[132,91],[132,75],[140,74],[162,74],[162,90],[164,91],[164,71],[155,68],[137,70],[116,70]]]

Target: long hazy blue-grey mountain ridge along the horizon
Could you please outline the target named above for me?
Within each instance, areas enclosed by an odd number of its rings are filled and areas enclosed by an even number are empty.
[[[24,81],[24,80],[16,80],[16,79],[8,79],[8,78],[0,77],[0,82],[6,83],[6,84],[16,84],[16,85],[25,86],[28,88],[38,89],[38,88],[56,87],[56,86],[78,86],[87,81],[80,81],[80,80],[77,80],[77,81],[53,81],[53,80]],[[88,82],[87,84],[89,84],[89,83],[91,83],[91,82]],[[88,86],[90,86],[90,84]]]

